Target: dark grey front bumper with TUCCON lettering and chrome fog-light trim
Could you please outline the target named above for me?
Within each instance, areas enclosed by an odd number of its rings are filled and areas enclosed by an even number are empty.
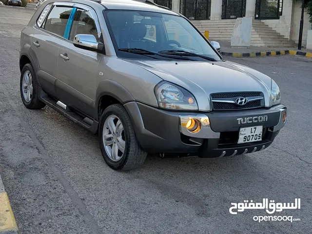
[[[240,111],[179,113],[160,110],[138,102],[128,102],[128,111],[140,146],[147,152],[178,153],[199,157],[223,157],[261,151],[272,144],[284,127],[287,108],[278,105]],[[198,133],[185,125],[189,118],[209,117]],[[245,123],[246,122],[246,123]],[[206,125],[206,126],[204,126]],[[261,141],[237,144],[241,127],[263,126]]]

